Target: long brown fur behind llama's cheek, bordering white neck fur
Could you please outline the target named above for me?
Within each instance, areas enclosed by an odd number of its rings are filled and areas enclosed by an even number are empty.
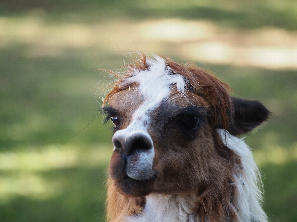
[[[235,185],[232,185],[235,182],[232,174],[239,170],[241,163],[235,161],[235,154],[221,144],[217,135],[213,136],[218,143],[215,146],[219,154],[216,161],[222,161],[224,167],[217,171],[217,173],[221,174],[216,175],[219,180],[215,183],[210,182],[212,185],[198,195],[198,201],[196,201],[198,215],[202,222],[206,221],[206,219],[212,222],[237,221],[238,215],[234,207],[237,189]],[[217,162],[214,164],[217,164]],[[216,172],[212,172],[212,174],[216,174]]]

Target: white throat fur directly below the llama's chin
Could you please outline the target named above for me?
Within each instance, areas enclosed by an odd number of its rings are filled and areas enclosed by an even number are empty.
[[[146,196],[144,210],[140,215],[131,216],[131,222],[196,222],[191,214],[192,198],[183,195],[150,194]]]

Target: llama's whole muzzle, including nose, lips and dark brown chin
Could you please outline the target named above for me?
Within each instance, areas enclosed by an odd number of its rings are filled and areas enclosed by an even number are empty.
[[[157,178],[153,170],[153,141],[149,134],[142,130],[119,130],[114,134],[113,144],[110,175],[119,191],[133,196],[149,193]]]

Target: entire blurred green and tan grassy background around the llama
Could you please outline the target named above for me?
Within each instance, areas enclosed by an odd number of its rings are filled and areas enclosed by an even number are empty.
[[[0,221],[104,221],[100,69],[134,49],[195,62],[274,113],[246,141],[270,220],[296,222],[295,0],[1,0]]]

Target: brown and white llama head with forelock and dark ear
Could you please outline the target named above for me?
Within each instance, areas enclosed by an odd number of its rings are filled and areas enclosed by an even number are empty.
[[[243,134],[263,123],[269,111],[257,101],[230,97],[229,90],[193,64],[143,55],[128,66],[104,108],[115,125],[110,177],[117,191],[196,195],[197,208],[204,205],[200,214],[216,207],[217,214],[235,218],[230,203],[236,189],[230,184],[241,163],[215,129]]]

